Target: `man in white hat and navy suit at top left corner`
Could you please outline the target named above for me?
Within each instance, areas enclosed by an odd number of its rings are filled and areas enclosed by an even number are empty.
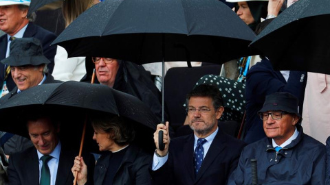
[[[8,57],[10,38],[38,38],[43,46],[43,53],[50,64],[48,65],[50,73],[54,68],[54,56],[56,54],[56,45],[50,45],[55,40],[56,35],[42,27],[34,25],[35,14],[28,15],[30,1],[0,1],[0,29],[5,32],[0,37],[0,60]],[[0,86],[1,89],[12,90],[15,86],[11,75],[6,75],[8,66],[0,64]],[[7,76],[7,77],[6,77]]]

